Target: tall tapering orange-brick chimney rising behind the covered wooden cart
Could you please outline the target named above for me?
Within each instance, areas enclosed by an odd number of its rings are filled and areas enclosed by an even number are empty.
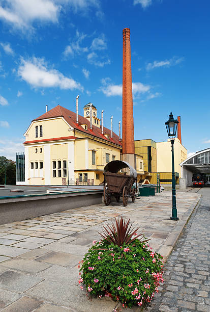
[[[134,123],[133,123],[133,95],[131,75],[131,43],[130,29],[123,30],[123,160],[134,168]]]

